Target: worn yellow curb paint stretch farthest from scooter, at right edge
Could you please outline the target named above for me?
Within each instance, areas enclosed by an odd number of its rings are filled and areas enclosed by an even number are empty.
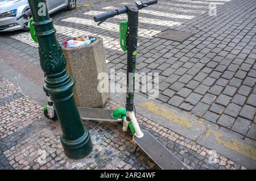
[[[209,137],[210,133],[214,134],[215,140],[219,144],[224,145],[226,148],[232,149],[234,151],[237,151],[238,153],[241,153],[243,155],[246,155],[247,157],[250,157],[256,160],[256,150],[253,147],[243,144],[242,142],[234,140],[232,138],[230,142],[224,141],[221,139],[221,137],[224,135],[212,129],[208,129],[208,131],[205,133],[205,136]],[[230,137],[226,137],[226,138],[229,139]]]

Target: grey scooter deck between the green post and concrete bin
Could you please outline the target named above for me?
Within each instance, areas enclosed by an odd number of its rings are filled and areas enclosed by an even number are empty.
[[[81,119],[83,120],[96,120],[96,121],[122,121],[121,119],[114,119],[111,115],[114,110],[101,109],[101,108],[78,108]]]

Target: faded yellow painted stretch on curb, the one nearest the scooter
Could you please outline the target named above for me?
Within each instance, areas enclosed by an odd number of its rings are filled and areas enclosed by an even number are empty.
[[[155,113],[156,115],[159,115],[161,117],[164,117],[181,127],[185,128],[192,128],[193,127],[193,121],[188,119],[185,116],[177,116],[175,112],[167,110],[165,108],[160,108],[155,105],[153,102],[147,102],[147,103],[139,103],[138,106],[143,107],[144,109],[151,111]]]

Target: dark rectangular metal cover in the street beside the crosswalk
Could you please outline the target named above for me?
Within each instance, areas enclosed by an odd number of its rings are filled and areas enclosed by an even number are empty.
[[[160,39],[183,42],[193,35],[195,34],[184,32],[184,31],[167,29],[167,30],[164,30],[163,32],[160,32],[158,35],[155,35],[154,37],[159,37]]]

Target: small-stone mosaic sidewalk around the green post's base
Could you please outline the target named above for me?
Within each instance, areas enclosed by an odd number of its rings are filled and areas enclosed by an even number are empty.
[[[59,121],[43,116],[42,106],[6,78],[0,79],[0,169],[159,169],[119,123],[83,121],[89,128],[93,151],[72,161],[60,142]],[[119,105],[109,101],[106,108]],[[152,120],[137,115],[143,129],[191,169],[246,169],[222,155],[196,144]]]

